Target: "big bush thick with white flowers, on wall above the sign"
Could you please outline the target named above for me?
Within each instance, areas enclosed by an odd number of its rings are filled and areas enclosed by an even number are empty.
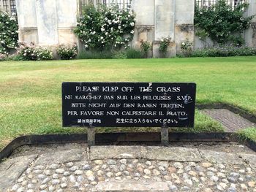
[[[134,27],[135,14],[132,11],[89,5],[83,9],[83,15],[78,19],[75,34],[86,49],[127,48],[135,32]]]

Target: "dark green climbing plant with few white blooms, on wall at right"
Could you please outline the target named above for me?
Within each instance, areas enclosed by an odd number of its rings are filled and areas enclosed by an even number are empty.
[[[200,39],[210,37],[220,45],[242,45],[242,33],[249,28],[249,20],[254,15],[244,17],[248,4],[241,3],[237,7],[230,7],[225,0],[219,0],[211,7],[195,8],[195,27]]]

